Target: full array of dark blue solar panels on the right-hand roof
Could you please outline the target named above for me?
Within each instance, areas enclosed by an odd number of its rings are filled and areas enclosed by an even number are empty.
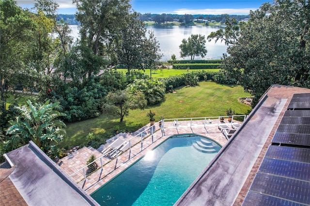
[[[293,96],[243,205],[310,206],[310,93]]]

